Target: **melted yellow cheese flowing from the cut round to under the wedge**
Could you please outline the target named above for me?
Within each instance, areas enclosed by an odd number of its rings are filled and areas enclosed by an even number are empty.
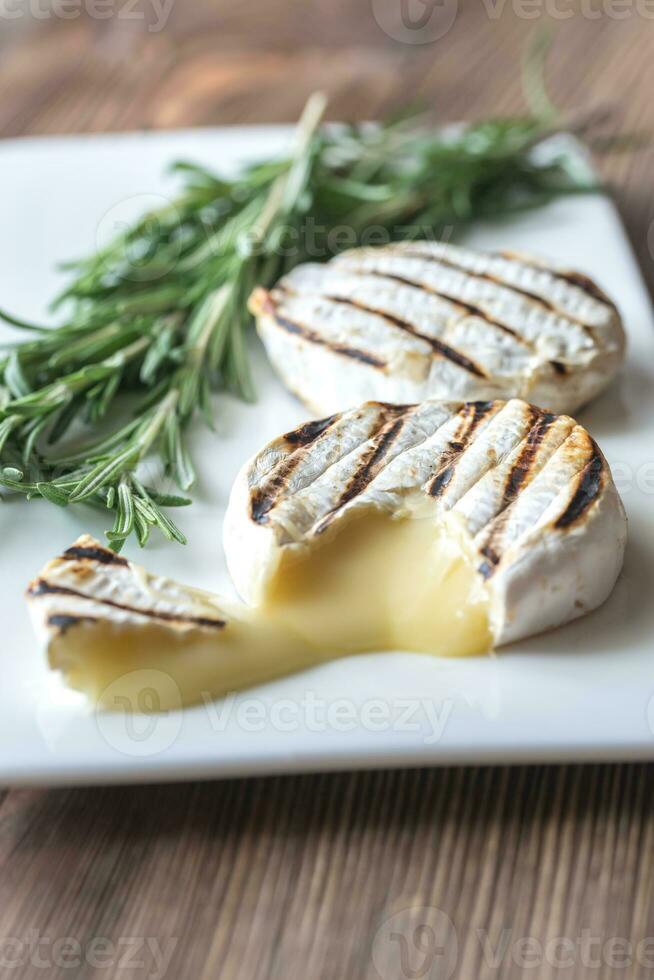
[[[365,509],[286,549],[261,606],[222,629],[80,622],[53,639],[50,661],[105,708],[168,710],[352,653],[485,652],[488,614],[452,527]]]

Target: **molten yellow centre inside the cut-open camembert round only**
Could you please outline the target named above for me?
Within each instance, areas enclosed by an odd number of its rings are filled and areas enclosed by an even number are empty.
[[[464,656],[491,646],[488,601],[452,529],[370,509],[287,549],[261,615],[325,651]]]

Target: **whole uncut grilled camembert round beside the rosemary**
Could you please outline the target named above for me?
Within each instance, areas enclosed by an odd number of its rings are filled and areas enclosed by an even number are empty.
[[[276,371],[316,414],[367,399],[525,398],[574,412],[613,378],[625,336],[587,276],[436,242],[298,266],[250,309]]]

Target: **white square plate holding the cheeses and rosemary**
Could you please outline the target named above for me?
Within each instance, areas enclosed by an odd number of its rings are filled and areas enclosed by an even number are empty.
[[[285,128],[26,139],[0,145],[0,303],[44,317],[61,286],[55,263],[84,254],[174,193],[177,158],[225,167],[277,152]],[[95,715],[53,685],[22,594],[44,561],[107,521],[83,507],[10,500],[0,507],[2,685],[0,781],[100,783],[319,769],[654,757],[654,331],[638,269],[612,204],[562,200],[470,236],[482,247],[551,254],[597,277],[616,298],[628,362],[580,416],[605,451],[627,507],[624,573],[586,619],[461,661],[409,654],[353,657],[166,716]],[[6,332],[6,336],[10,336]],[[217,399],[218,434],[198,425],[200,480],[178,512],[189,545],[154,538],[127,554],[189,584],[231,593],[221,522],[232,479],[304,410],[256,342],[260,400]]]

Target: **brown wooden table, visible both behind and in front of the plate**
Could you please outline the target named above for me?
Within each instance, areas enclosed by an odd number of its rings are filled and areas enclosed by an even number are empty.
[[[654,130],[645,0],[445,0],[454,23],[424,44],[394,39],[392,6],[176,0],[163,30],[151,0],[0,19],[0,135],[291,120],[316,88],[334,118],[412,98],[444,118],[516,112],[544,10],[555,98]],[[651,168],[649,152],[605,164],[650,283]],[[651,786],[632,765],[6,791],[0,976],[653,976]]]

